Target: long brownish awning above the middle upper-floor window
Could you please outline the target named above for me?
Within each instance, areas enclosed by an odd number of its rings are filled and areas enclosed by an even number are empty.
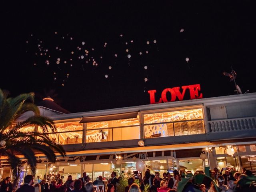
[[[130,118],[136,118],[137,116],[138,116],[138,111],[130,112],[130,113],[104,115],[104,116],[91,116],[91,117],[82,118],[82,120],[79,123],[111,121],[111,120],[118,120],[118,119],[130,119]]]

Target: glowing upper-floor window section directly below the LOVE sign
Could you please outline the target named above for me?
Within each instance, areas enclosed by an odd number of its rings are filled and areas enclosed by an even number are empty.
[[[201,108],[144,115],[145,138],[203,134]]]

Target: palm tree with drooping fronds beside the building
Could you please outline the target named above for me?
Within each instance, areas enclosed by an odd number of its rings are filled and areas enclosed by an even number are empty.
[[[34,115],[26,120],[18,120],[27,111],[34,112]],[[34,126],[34,130],[22,131],[21,128],[26,126]],[[34,93],[7,98],[0,89],[0,156],[6,156],[8,159],[14,179],[14,190],[18,188],[22,172],[20,155],[28,160],[34,176],[37,165],[35,152],[45,154],[50,162],[56,161],[54,151],[63,157],[66,156],[62,146],[50,140],[46,134],[48,132],[56,132],[56,126],[50,118],[40,116],[40,111],[34,104]]]

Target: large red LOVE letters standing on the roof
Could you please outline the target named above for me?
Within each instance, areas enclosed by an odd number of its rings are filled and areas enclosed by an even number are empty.
[[[201,90],[200,84],[194,84],[194,85],[186,85],[182,86],[182,93],[180,92],[180,87],[173,87],[173,88],[166,88],[162,91],[161,98],[159,99],[158,102],[155,100],[155,93],[156,90],[149,90],[149,96],[150,96],[150,104],[155,104],[155,103],[162,103],[162,102],[172,102],[175,101],[176,98],[178,97],[178,100],[182,101],[186,92],[186,89],[189,89],[190,92],[190,99],[200,99],[203,98],[203,94],[198,93],[198,91]],[[170,92],[171,94],[171,100],[168,100],[166,97],[166,94]]]

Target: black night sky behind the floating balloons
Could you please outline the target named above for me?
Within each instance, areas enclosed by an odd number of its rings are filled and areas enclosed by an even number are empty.
[[[6,1],[1,6],[0,88],[9,90],[10,96],[55,89],[61,106],[81,112],[149,104],[148,90],[156,89],[159,96],[164,88],[190,84],[201,84],[204,98],[235,94],[234,83],[222,74],[230,72],[232,65],[242,92],[255,92],[255,12],[248,2]],[[74,41],[56,40],[54,32],[60,37],[69,34]],[[49,49],[56,42],[62,45],[61,55],[55,54],[61,59],[84,41],[95,48],[95,57],[103,55],[102,63],[82,70],[76,59],[72,68],[58,71],[56,62],[46,66],[45,60],[34,56],[36,48],[26,44],[26,40],[33,42],[30,34]],[[134,40],[133,46],[128,45],[130,66],[127,47],[120,46],[120,34],[124,42]],[[155,39],[158,50],[152,42]],[[102,53],[104,42],[108,46]],[[140,50],[149,50],[149,54],[140,57]],[[188,64],[186,57],[190,58]],[[58,81],[60,76],[54,82],[54,71],[70,74],[64,86]]]

